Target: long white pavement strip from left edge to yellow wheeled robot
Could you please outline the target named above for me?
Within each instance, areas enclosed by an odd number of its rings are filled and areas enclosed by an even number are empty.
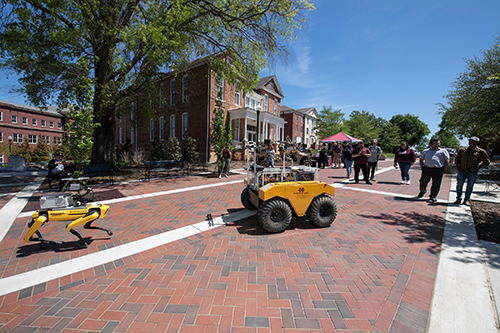
[[[89,268],[104,265],[118,259],[122,259],[140,252],[153,249],[177,240],[196,235],[200,232],[218,228],[227,223],[235,222],[255,215],[255,211],[241,210],[213,221],[203,221],[194,225],[164,232],[162,234],[143,238],[131,243],[119,245],[107,250],[91,253],[75,259],[63,261],[54,265],[45,266],[33,271],[9,276],[0,279],[0,296],[15,291],[23,290],[40,283],[59,279],[63,276],[84,271]]]

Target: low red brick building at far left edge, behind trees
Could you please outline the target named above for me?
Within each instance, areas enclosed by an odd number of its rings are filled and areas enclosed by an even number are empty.
[[[13,145],[28,141],[35,146],[41,137],[50,146],[60,145],[65,136],[66,117],[56,111],[0,101],[0,163],[7,163]]]

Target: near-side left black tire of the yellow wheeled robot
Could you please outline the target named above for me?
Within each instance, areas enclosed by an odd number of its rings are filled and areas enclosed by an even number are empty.
[[[283,232],[292,221],[292,210],[279,198],[265,201],[257,212],[260,226],[269,233]]]

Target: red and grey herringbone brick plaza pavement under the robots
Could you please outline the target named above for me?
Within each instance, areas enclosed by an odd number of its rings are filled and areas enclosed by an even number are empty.
[[[320,179],[341,182],[344,174],[324,169]],[[419,168],[410,175],[410,186],[399,184],[399,170],[377,175],[372,186],[336,185],[330,228],[294,218],[284,233],[269,235],[253,216],[0,296],[0,331],[424,332],[447,205],[417,200]],[[93,240],[88,249],[57,223],[41,231],[67,244],[46,251],[26,244],[29,217],[20,217],[0,243],[0,277],[241,211],[243,177],[114,185],[127,196],[201,188],[111,203],[94,223],[114,235],[84,230]],[[203,187],[210,184],[220,186]]]

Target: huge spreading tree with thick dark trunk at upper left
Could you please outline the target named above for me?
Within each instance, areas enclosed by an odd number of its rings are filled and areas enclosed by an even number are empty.
[[[45,106],[68,104],[78,78],[94,85],[93,163],[114,164],[119,105],[152,112],[160,72],[211,57],[212,68],[251,89],[314,9],[309,0],[0,0],[1,66],[20,92]],[[78,67],[85,59],[89,72]],[[268,60],[269,59],[269,60]],[[90,73],[90,74],[89,74]],[[242,79],[243,78],[243,79]],[[156,103],[158,104],[158,103]]]

